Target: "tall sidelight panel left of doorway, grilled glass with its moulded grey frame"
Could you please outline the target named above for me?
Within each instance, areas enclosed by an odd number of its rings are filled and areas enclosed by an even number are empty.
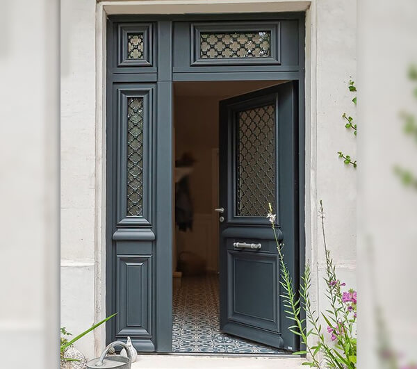
[[[150,225],[154,87],[118,87],[117,224]]]

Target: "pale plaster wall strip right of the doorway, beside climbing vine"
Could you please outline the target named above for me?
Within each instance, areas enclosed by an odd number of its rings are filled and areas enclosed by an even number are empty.
[[[357,158],[356,137],[345,129],[341,117],[344,112],[356,115],[352,103],[356,94],[347,89],[349,80],[356,76],[356,0],[316,1],[316,26],[316,203],[322,199],[325,207],[327,247],[337,271],[347,286],[354,287],[357,171],[343,164],[336,153],[343,151]],[[322,277],[325,252],[320,222],[317,232]]]

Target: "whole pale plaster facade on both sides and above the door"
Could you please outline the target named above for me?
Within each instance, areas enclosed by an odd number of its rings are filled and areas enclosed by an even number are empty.
[[[117,3],[117,7],[113,4]],[[104,85],[101,32],[108,13],[284,11],[306,1],[106,1],[63,0],[61,22],[61,325],[74,334],[102,318],[105,290],[101,206],[103,187],[101,106]],[[200,4],[204,3],[204,8]],[[155,6],[155,4],[157,4]],[[124,7],[125,6],[125,7]],[[146,6],[146,10],[144,10]],[[178,9],[178,11],[177,11]],[[124,11],[126,10],[126,11]],[[97,12],[97,14],[96,14]],[[98,19],[96,23],[96,17]],[[313,0],[306,17],[306,257],[313,265],[313,300],[325,303],[324,254],[317,204],[327,213],[327,243],[341,279],[355,284],[356,173],[336,151],[355,155],[356,142],[341,114],[354,114],[347,90],[356,69],[356,1]],[[99,42],[96,42],[97,40]],[[96,54],[97,53],[97,54]],[[97,84],[96,84],[97,83]],[[359,86],[360,87],[360,86]],[[96,91],[97,88],[97,91]],[[97,95],[96,95],[97,92]],[[99,213],[98,213],[99,212]],[[103,347],[104,331],[77,346],[88,356]]]

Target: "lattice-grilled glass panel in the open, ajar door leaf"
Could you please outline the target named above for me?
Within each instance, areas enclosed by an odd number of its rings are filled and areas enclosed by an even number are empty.
[[[275,204],[275,106],[240,111],[237,120],[236,215],[265,217]]]

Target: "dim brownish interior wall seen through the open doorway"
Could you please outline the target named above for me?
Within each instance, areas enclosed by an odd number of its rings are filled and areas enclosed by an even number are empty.
[[[218,149],[219,102],[232,96],[272,85],[271,81],[174,83],[175,158],[185,152],[196,160],[190,174],[193,230],[176,232],[176,253],[193,252],[206,262],[206,270],[218,271],[218,214],[213,208],[213,149]],[[214,177],[214,183],[213,183]],[[175,264],[175,263],[174,263]]]

